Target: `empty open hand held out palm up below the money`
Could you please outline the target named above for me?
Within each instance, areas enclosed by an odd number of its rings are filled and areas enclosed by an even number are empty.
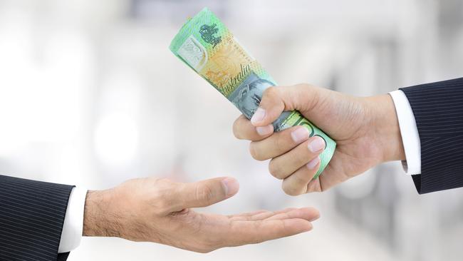
[[[235,195],[233,178],[198,183],[140,178],[118,187],[88,192],[83,235],[157,242],[195,252],[264,242],[311,230],[319,216],[313,208],[288,208],[240,215],[196,213]]]

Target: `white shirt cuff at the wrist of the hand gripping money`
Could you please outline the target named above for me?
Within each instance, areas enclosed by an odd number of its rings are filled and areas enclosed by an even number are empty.
[[[418,133],[412,106],[403,91],[391,91],[389,94],[394,101],[405,150],[406,160],[402,161],[402,167],[408,175],[421,174],[420,133]]]

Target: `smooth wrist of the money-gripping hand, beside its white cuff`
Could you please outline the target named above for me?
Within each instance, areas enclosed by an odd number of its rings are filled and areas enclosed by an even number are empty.
[[[375,143],[379,148],[383,148],[381,161],[405,160],[402,135],[392,97],[385,94],[366,99],[373,118],[371,129],[375,133]]]

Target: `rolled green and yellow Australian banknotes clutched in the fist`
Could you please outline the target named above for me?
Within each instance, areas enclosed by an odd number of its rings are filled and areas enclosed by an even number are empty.
[[[170,50],[249,119],[259,107],[264,90],[276,85],[269,73],[207,8],[184,24],[172,40]],[[318,178],[333,156],[336,147],[334,140],[298,111],[281,113],[273,125],[275,131],[304,126],[310,136],[318,135],[326,141],[326,148],[320,155],[320,168],[313,177]]]

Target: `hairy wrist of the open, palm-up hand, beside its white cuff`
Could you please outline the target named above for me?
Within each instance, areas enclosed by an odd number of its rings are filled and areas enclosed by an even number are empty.
[[[83,236],[120,237],[118,215],[111,210],[113,198],[112,190],[88,190],[83,214]]]

